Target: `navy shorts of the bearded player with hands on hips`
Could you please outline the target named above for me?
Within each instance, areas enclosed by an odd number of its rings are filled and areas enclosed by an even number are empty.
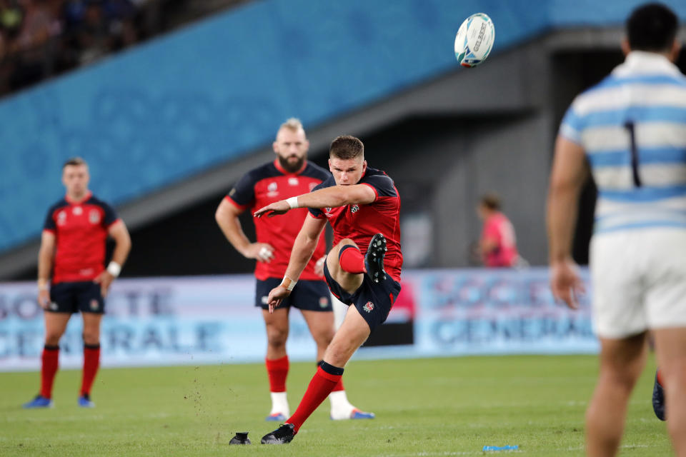
[[[279,286],[281,278],[257,280],[255,288],[255,306],[269,309],[267,297],[272,288]],[[298,281],[291,294],[281,302],[279,308],[293,306],[301,311],[334,311],[331,305],[331,294],[324,281]]]

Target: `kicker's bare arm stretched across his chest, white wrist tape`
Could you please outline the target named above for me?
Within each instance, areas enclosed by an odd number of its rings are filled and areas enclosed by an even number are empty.
[[[276,201],[255,211],[255,216],[269,217],[284,214],[294,208],[337,208],[349,204],[370,204],[377,198],[376,192],[366,184],[331,186],[318,191]]]

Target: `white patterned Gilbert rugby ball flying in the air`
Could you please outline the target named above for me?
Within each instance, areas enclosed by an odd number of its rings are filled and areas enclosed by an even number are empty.
[[[482,64],[493,48],[495,26],[486,14],[472,14],[464,19],[455,36],[457,63],[471,68]]]

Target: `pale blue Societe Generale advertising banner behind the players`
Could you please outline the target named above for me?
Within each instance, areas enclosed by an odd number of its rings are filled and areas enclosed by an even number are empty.
[[[554,303],[547,268],[404,272],[388,328],[355,357],[595,353],[587,270],[582,277],[587,293],[570,310]],[[313,361],[316,346],[302,315],[290,313],[290,323],[289,358]],[[0,371],[39,369],[43,338],[35,283],[0,284]],[[80,316],[71,318],[60,346],[60,365],[79,368]],[[106,300],[103,366],[259,362],[266,346],[251,275],[119,279]]]

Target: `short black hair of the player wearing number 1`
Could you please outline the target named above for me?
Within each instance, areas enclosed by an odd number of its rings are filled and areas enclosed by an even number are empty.
[[[633,51],[669,51],[678,27],[677,16],[667,6],[639,6],[627,19],[627,37]]]

